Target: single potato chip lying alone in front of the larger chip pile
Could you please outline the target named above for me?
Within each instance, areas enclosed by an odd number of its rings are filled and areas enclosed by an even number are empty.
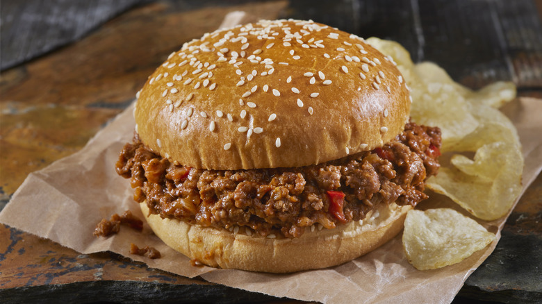
[[[404,221],[403,248],[420,270],[461,262],[494,239],[475,220],[448,208],[411,210]]]

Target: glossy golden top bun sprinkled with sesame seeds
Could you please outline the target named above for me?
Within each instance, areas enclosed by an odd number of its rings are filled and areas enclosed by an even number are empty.
[[[401,133],[409,90],[391,57],[312,21],[205,34],[138,93],[140,140],[202,169],[301,167],[369,151]]]

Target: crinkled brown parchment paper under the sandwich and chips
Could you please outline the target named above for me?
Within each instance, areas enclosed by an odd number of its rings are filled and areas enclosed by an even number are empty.
[[[502,110],[518,128],[523,144],[525,189],[542,169],[542,100],[516,99]],[[165,246],[146,224],[143,233],[121,228],[113,237],[97,238],[92,235],[96,224],[113,213],[131,210],[143,219],[132,199],[129,181],[117,176],[114,169],[122,146],[133,137],[132,111],[131,106],[118,115],[78,153],[30,174],[0,213],[0,222],[81,253],[113,251],[181,276],[202,276],[211,282],[253,292],[322,303],[450,303],[498,242],[459,264],[418,271],[407,262],[398,235],[376,251],[337,267],[276,275],[192,267],[188,257]],[[438,194],[432,194],[420,207],[461,211]],[[506,218],[481,223],[500,238]],[[131,255],[131,242],[154,246],[163,257],[149,260]]]

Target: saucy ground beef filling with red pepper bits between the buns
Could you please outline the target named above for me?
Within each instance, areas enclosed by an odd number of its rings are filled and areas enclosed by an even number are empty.
[[[395,140],[318,165],[252,170],[205,170],[174,164],[142,144],[126,144],[117,173],[130,178],[134,199],[153,214],[269,235],[299,237],[320,223],[359,221],[381,203],[416,205],[424,180],[438,171],[441,131],[408,123]]]

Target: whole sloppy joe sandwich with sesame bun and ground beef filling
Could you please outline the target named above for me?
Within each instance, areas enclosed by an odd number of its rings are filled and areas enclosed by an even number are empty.
[[[409,120],[400,71],[311,21],[220,29],[149,76],[117,172],[163,241],[213,267],[347,262],[426,199],[441,133]]]

